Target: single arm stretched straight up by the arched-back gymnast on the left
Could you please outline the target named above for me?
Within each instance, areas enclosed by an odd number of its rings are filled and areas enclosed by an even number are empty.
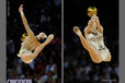
[[[27,21],[25,19],[25,15],[23,13],[23,4],[20,5],[19,8],[19,12],[21,13],[21,17],[22,17],[22,21],[23,21],[23,25],[27,32],[27,35],[33,35],[34,33],[32,32],[32,29],[30,28],[29,24],[27,24]]]

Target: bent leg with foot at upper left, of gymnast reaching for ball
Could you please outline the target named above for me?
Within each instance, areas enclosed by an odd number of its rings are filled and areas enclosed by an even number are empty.
[[[75,27],[73,27],[73,32],[79,36],[82,46],[89,51],[92,61],[95,62],[95,63],[100,63],[100,62],[102,61],[102,57],[101,57],[100,54],[98,54],[96,50],[86,40],[86,38],[82,36],[80,29],[79,29],[77,26],[75,26]]]

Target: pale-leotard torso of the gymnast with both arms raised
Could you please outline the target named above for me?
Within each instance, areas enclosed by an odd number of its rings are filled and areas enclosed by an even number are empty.
[[[105,60],[109,55],[109,49],[104,45],[103,35],[96,28],[91,28],[86,38],[87,42],[89,42],[91,46],[102,56],[103,60]]]

